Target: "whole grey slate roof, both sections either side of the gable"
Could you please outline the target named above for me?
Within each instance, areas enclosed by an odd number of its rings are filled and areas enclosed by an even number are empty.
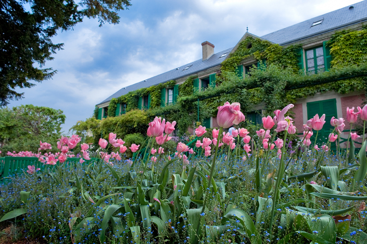
[[[353,6],[353,8],[350,9],[351,6]],[[318,20],[323,21],[321,24],[311,27],[312,23]],[[367,0],[280,29],[279,31],[267,34],[265,36],[262,36],[261,38],[271,41],[273,43],[285,45],[363,21],[367,21]],[[232,49],[233,47],[218,52],[204,62],[202,61],[202,59],[199,59],[190,64],[178,67],[178,69],[173,69],[163,74],[146,79],[146,81],[140,81],[133,85],[126,86],[118,90],[118,92],[105,99],[98,105],[109,102],[112,98],[118,98],[122,95],[127,94],[128,92],[132,92],[133,90],[137,90],[143,87],[149,87],[159,83],[164,83],[169,80],[175,80],[183,76],[195,74],[201,70],[215,67],[222,63],[222,61],[225,59],[225,57],[219,57],[223,53],[230,52]],[[187,70],[183,70],[188,66],[191,67]]]

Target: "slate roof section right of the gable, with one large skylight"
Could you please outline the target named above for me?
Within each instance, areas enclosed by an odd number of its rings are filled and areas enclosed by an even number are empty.
[[[351,6],[354,8],[349,9]],[[323,19],[321,24],[311,27],[313,22],[321,19]],[[367,1],[363,1],[280,29],[261,38],[273,43],[285,45],[366,20]]]

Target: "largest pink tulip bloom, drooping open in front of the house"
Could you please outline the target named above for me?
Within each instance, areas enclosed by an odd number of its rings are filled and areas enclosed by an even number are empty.
[[[229,128],[233,124],[238,125],[242,121],[245,121],[245,115],[240,110],[240,103],[229,104],[226,102],[223,106],[218,107],[218,125],[222,128]]]

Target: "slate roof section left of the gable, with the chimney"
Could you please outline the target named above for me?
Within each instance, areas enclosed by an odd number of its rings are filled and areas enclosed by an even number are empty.
[[[221,57],[221,58],[220,58],[220,56],[224,53],[229,53],[232,50],[232,48],[233,47],[228,48],[224,51],[215,53],[215,54],[213,54],[213,56],[209,57],[209,59],[207,59],[205,61],[203,61],[202,58],[200,58],[200,59],[198,59],[198,60],[196,60],[196,61],[194,61],[190,64],[178,67],[178,69],[176,68],[176,69],[170,70],[166,73],[163,73],[163,74],[154,76],[152,78],[146,79],[146,81],[140,81],[138,83],[126,86],[125,88],[120,89],[118,92],[116,92],[115,94],[113,94],[112,96],[110,96],[109,98],[107,98],[106,100],[104,100],[103,102],[101,102],[99,104],[109,102],[112,98],[118,98],[122,95],[127,94],[128,92],[132,92],[133,90],[137,90],[137,89],[144,88],[144,87],[149,87],[149,86],[156,85],[156,84],[159,84],[159,83],[164,83],[164,82],[167,82],[167,81],[170,81],[170,80],[175,80],[175,79],[178,79],[178,78],[183,77],[183,76],[188,76],[188,75],[191,75],[191,74],[195,74],[195,73],[197,73],[198,71],[201,71],[201,70],[206,70],[206,69],[209,69],[211,67],[218,66],[220,63],[222,63],[222,60],[224,60],[224,58],[225,58],[225,56]],[[186,67],[189,67],[189,66],[191,66],[189,69],[183,70],[183,69],[185,69]],[[99,104],[97,104],[97,105],[99,105]]]

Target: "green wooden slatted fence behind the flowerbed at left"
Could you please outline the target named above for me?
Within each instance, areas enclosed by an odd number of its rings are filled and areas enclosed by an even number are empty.
[[[79,163],[80,158],[68,158],[63,164],[73,164]],[[91,160],[86,160],[83,164],[89,164],[90,162],[97,161],[97,158],[91,158]],[[41,170],[44,170],[46,164],[38,161],[37,157],[3,157],[0,158],[0,179],[4,177],[10,177],[15,174],[20,174],[28,170],[28,165],[34,165]],[[60,165],[60,162],[57,162]],[[55,166],[47,165],[48,168],[53,170]]]

